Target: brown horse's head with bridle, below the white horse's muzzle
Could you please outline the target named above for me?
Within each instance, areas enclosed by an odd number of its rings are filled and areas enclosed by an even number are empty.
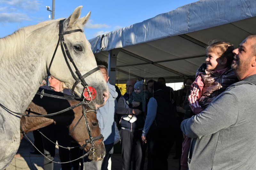
[[[103,138],[100,137],[100,127],[96,117],[96,111],[90,110],[89,107],[85,106],[86,113],[83,114],[81,112],[81,107],[82,106],[79,106],[73,109],[75,112],[75,119],[69,125],[69,132],[71,132],[70,136],[73,137],[80,146],[84,147],[85,152],[92,152],[92,154],[90,153],[88,155],[89,159],[102,160],[105,155],[105,147],[103,144]],[[88,122],[86,122],[86,119]],[[90,141],[88,128],[91,132],[92,138],[99,138]]]

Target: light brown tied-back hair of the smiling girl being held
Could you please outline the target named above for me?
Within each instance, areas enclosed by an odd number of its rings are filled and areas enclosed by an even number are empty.
[[[208,42],[206,47],[207,51],[215,52],[221,59],[227,58],[227,67],[229,67],[233,61],[234,45],[221,40],[212,40]]]

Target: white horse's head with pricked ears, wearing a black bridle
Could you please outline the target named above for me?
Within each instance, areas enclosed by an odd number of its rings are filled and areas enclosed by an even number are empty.
[[[70,89],[73,88],[74,92],[79,96],[83,95],[85,84],[93,87],[96,90],[96,97],[92,100],[89,106],[96,109],[96,107],[101,107],[105,104],[109,97],[109,91],[100,70],[97,70],[98,68],[92,53],[91,45],[83,32],[83,27],[89,20],[91,12],[79,19],[81,9],[82,6],[79,6],[67,19],[61,20],[60,22],[56,21],[59,22],[57,26],[60,27],[60,34],[63,34],[63,39],[60,38],[60,43],[54,59],[52,60],[52,56],[48,57],[47,68],[53,77],[63,81]],[[59,28],[57,29],[59,30]],[[60,44],[63,44],[63,46],[61,47]],[[63,48],[65,52],[63,52],[63,49],[61,48]],[[52,54],[53,52],[54,51],[52,51]],[[68,53],[70,54],[73,63],[70,61]],[[65,61],[64,55],[67,55],[67,61]],[[80,74],[80,76],[77,75],[77,73]],[[73,86],[76,83],[77,85]],[[95,93],[92,95],[94,94]]]

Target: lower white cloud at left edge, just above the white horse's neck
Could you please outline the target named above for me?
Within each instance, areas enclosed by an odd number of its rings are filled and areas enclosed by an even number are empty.
[[[31,19],[22,13],[0,13],[0,22],[22,22],[31,21]]]

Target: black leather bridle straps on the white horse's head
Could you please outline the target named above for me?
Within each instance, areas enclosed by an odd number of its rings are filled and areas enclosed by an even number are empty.
[[[74,63],[74,60],[73,60],[73,58],[71,57],[71,55],[70,55],[70,53],[69,53],[69,51],[68,51],[67,44],[66,44],[66,42],[64,41],[64,35],[65,35],[65,34],[70,34],[70,33],[75,33],[75,32],[82,32],[82,33],[83,33],[84,31],[83,31],[82,29],[75,29],[75,30],[63,32],[63,22],[64,22],[64,20],[65,20],[65,19],[60,20],[60,23],[59,23],[59,40],[58,40],[57,46],[56,46],[56,48],[55,48],[55,50],[54,50],[54,53],[53,53],[53,55],[52,55],[52,60],[51,60],[51,62],[50,62],[50,64],[49,64],[49,68],[47,68],[47,74],[48,74],[48,76],[51,75],[50,69],[51,69],[51,66],[52,66],[52,61],[53,61],[53,59],[54,59],[54,56],[55,56],[56,51],[57,51],[57,49],[58,49],[58,47],[59,47],[59,44],[60,44],[60,47],[61,47],[61,50],[62,50],[64,59],[65,59],[67,65],[68,65],[68,69],[69,69],[70,73],[72,74],[72,77],[76,80],[75,83],[74,83],[74,85],[73,85],[73,87],[72,87],[72,91],[71,91],[71,93],[74,94],[75,87],[76,87],[76,85],[77,85],[79,82],[81,82],[81,84],[84,86],[84,89],[85,89],[85,88],[88,87],[89,85],[85,82],[84,78],[86,78],[87,76],[91,75],[92,73],[94,73],[95,71],[98,71],[98,70],[100,70],[100,69],[99,69],[99,67],[96,67],[96,68],[92,69],[91,71],[85,73],[85,74],[82,76],[82,74],[81,74],[80,71],[77,69],[76,64]],[[68,57],[67,57],[67,56],[68,56]],[[73,64],[73,66],[74,66],[74,68],[75,68],[75,70],[76,70],[76,71],[75,71],[75,72],[76,72],[76,75],[77,75],[78,78],[76,77],[75,73],[74,73],[73,70],[71,69],[71,66],[70,66],[70,64],[69,64],[69,62],[68,62],[68,59],[69,59],[69,61]],[[91,98],[91,100],[92,100],[92,98]]]

